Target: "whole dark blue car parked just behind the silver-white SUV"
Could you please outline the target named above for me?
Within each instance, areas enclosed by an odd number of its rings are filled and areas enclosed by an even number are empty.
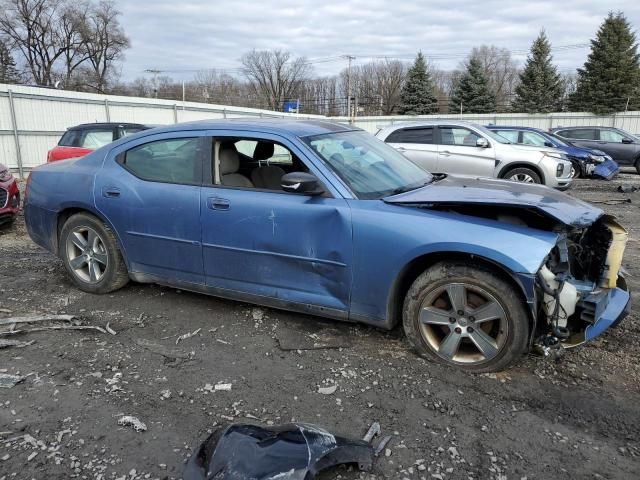
[[[597,176],[610,180],[619,171],[618,164],[602,150],[591,150],[571,145],[556,135],[532,127],[487,125],[487,128],[511,143],[536,147],[551,147],[563,151],[571,161],[571,176]]]

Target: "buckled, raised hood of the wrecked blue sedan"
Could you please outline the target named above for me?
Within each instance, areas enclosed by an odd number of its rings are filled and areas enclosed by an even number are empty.
[[[569,226],[586,227],[603,211],[543,185],[490,178],[447,176],[410,192],[384,199],[386,203],[429,205],[504,205],[536,209]]]

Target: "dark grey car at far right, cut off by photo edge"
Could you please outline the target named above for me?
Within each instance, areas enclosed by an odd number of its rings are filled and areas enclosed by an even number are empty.
[[[613,127],[558,127],[551,132],[572,145],[602,150],[620,165],[636,167],[640,173],[640,139]]]

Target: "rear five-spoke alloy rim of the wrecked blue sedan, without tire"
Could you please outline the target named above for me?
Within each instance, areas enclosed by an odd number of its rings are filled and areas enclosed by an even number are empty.
[[[79,226],[67,236],[67,259],[73,273],[84,282],[98,283],[109,265],[109,255],[100,235]]]

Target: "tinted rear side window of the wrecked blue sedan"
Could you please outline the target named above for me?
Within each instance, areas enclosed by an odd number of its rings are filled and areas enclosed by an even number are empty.
[[[145,143],[128,150],[120,163],[142,180],[199,184],[206,151],[199,138]]]

